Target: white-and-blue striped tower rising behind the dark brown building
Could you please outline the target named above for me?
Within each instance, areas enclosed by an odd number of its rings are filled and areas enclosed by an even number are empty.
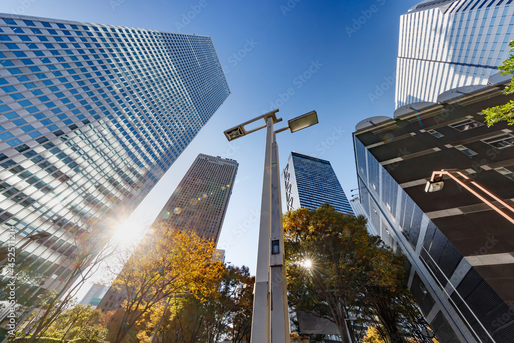
[[[513,27],[510,1],[427,0],[409,9],[400,16],[396,108],[486,85],[509,56]]]

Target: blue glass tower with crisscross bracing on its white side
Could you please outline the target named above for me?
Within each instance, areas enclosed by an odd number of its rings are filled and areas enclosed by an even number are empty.
[[[353,213],[329,161],[291,152],[281,176],[284,212],[328,203],[338,212]]]

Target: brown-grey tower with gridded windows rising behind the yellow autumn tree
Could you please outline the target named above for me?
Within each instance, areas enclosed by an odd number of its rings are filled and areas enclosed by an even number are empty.
[[[166,223],[217,242],[238,166],[233,159],[199,154],[153,226]],[[215,258],[224,261],[225,250],[217,249]],[[102,311],[122,308],[126,296],[125,289],[111,288],[98,308]]]

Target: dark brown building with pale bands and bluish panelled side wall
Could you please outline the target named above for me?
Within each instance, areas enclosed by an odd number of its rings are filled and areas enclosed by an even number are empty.
[[[451,89],[445,102],[363,120],[354,133],[362,207],[407,256],[408,286],[440,342],[514,339],[514,212],[466,181],[514,204],[514,132],[505,121],[488,128],[482,113],[512,99],[506,84]],[[426,192],[442,169],[461,170],[460,181],[446,175]]]

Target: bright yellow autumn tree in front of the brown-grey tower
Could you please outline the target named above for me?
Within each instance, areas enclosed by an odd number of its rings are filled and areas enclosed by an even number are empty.
[[[209,297],[223,268],[215,252],[214,241],[192,231],[154,226],[132,253],[119,258],[123,269],[112,287],[126,299],[118,314],[119,324],[112,326],[107,340],[120,343],[142,318],[171,298]]]

